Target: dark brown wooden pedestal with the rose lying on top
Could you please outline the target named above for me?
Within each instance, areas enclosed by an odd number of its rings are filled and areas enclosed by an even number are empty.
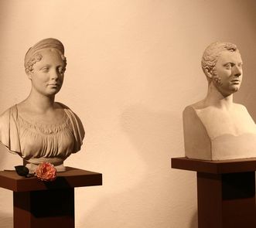
[[[14,228],[74,228],[74,188],[102,185],[102,175],[67,167],[54,182],[0,172],[0,187],[13,191]]]

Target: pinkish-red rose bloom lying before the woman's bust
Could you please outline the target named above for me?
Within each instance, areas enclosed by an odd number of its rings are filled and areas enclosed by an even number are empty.
[[[41,181],[52,182],[56,179],[56,168],[49,162],[43,162],[36,168],[35,175]]]

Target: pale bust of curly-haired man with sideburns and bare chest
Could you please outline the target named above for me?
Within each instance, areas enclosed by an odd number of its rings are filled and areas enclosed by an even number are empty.
[[[203,53],[207,97],[183,111],[187,158],[226,160],[256,157],[256,128],[246,107],[233,102],[243,77],[232,43],[213,43]]]

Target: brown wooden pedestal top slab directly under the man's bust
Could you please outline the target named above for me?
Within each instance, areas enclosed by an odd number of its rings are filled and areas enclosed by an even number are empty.
[[[191,158],[172,158],[172,168],[214,174],[252,172],[256,170],[256,158],[206,161]]]

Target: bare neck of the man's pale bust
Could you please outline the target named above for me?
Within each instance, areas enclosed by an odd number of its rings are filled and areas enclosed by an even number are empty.
[[[207,97],[203,100],[205,106],[214,106],[220,109],[229,110],[233,105],[233,94],[225,97],[219,90],[210,83],[208,86]]]

